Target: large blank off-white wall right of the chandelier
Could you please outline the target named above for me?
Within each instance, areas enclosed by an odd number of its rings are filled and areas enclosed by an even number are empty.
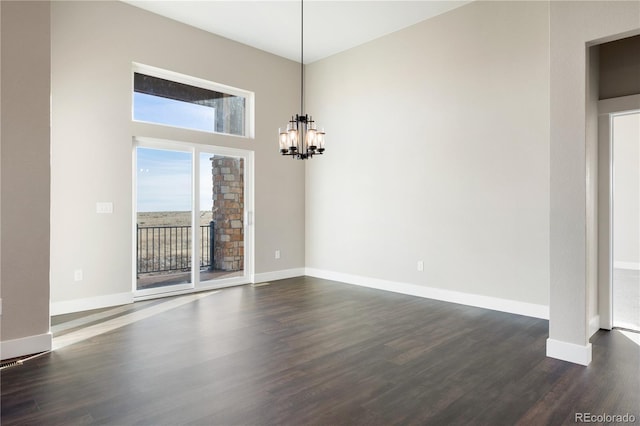
[[[548,18],[473,2],[307,66],[307,267],[546,309]]]

